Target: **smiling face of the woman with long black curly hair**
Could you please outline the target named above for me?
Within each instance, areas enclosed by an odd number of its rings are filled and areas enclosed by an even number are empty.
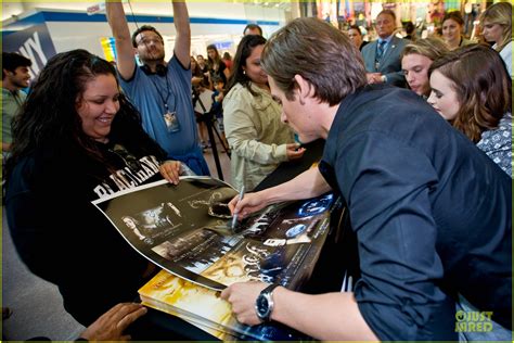
[[[106,142],[111,125],[119,111],[118,84],[114,75],[98,75],[86,82],[76,103],[83,132],[99,142]]]

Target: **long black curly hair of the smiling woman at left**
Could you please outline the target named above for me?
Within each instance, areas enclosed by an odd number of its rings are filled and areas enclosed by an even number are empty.
[[[82,122],[76,110],[87,82],[99,75],[112,75],[116,78],[116,71],[107,61],[81,49],[59,53],[47,63],[13,120],[12,154],[7,163],[8,177],[21,158],[40,147],[59,150],[60,147],[75,145],[91,158],[105,163],[94,139],[83,132]],[[139,112],[120,94],[119,111],[113,120],[110,137],[139,136],[141,132]],[[130,143],[129,139],[118,142],[137,145]],[[151,145],[150,150],[154,155],[156,150],[159,153],[163,151],[153,141]]]

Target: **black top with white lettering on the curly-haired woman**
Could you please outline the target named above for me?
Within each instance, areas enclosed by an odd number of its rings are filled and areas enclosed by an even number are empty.
[[[146,259],[91,201],[160,179],[163,154],[145,134],[112,141],[98,143],[102,162],[74,143],[40,147],[17,163],[7,187],[9,226],[22,259],[57,284],[66,310],[83,326],[133,301],[146,281]]]

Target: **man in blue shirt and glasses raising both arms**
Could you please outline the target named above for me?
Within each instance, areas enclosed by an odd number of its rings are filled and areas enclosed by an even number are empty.
[[[105,3],[119,81],[141,113],[144,130],[167,152],[168,160],[181,161],[197,175],[209,175],[191,102],[191,28],[185,2],[172,1],[177,34],[168,62],[163,36],[154,27],[143,25],[130,36],[121,2]],[[143,64],[140,67],[136,54]]]

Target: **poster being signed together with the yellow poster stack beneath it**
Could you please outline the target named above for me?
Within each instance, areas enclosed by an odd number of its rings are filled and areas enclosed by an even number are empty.
[[[313,270],[336,200],[329,193],[269,206],[232,229],[228,203],[236,194],[217,179],[183,177],[178,186],[157,181],[93,204],[136,251],[164,269],[139,290],[143,304],[220,339],[299,339],[274,323],[239,323],[219,291],[244,281],[298,289]]]

